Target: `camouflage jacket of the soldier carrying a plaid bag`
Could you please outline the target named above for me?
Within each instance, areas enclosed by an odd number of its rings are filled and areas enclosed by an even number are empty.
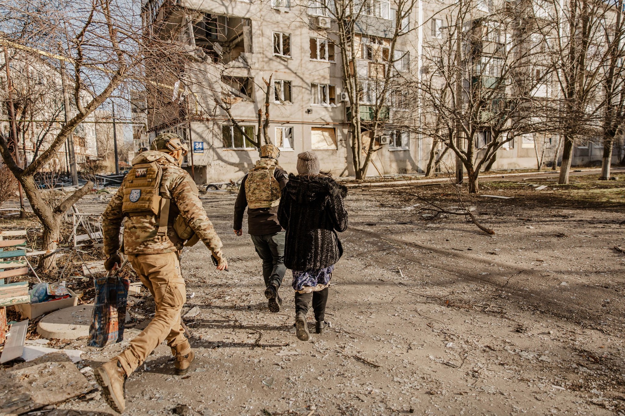
[[[161,196],[171,198],[168,220],[168,238],[161,241],[156,235],[158,221],[154,215],[133,215],[124,221],[122,204],[124,188],[119,187],[117,193],[111,198],[109,205],[102,214],[104,231],[104,254],[113,254],[119,249],[119,230],[124,222],[124,247],[126,254],[162,254],[183,249],[183,243],[174,232],[173,223],[178,214],[183,215],[189,226],[197,236],[204,241],[211,251],[219,251],[221,239],[217,236],[211,220],[206,216],[206,211],[199,200],[197,186],[185,172],[178,167],[178,163],[167,153],[157,150],[148,150],[140,153],[133,159],[133,165],[150,163],[154,161],[163,168],[161,189],[166,189],[169,195]],[[164,185],[164,186],[163,186]]]

